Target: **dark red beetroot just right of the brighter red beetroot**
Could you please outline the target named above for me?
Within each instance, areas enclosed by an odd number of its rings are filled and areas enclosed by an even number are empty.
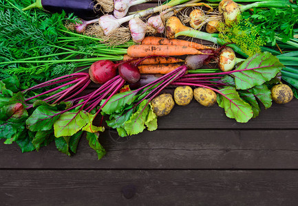
[[[136,83],[140,80],[140,71],[136,65],[130,65],[128,62],[124,62],[118,67],[118,70],[120,77],[129,83]]]

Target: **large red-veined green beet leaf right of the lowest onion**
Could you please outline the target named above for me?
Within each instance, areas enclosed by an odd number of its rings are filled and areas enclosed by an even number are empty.
[[[251,69],[234,72],[236,89],[250,89],[275,78],[284,65],[269,52],[256,53],[244,60],[235,70]]]

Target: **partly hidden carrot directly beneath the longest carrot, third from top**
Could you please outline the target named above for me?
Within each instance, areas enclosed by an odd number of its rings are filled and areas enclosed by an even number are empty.
[[[123,60],[129,60],[129,59],[133,59],[133,57],[128,56],[127,54],[123,56]],[[133,60],[131,62],[136,63],[140,60],[140,58],[135,58],[135,59],[136,60]],[[145,60],[142,60],[142,62],[140,62],[139,65],[174,64],[178,62],[184,62],[184,60],[180,58],[169,57],[169,56],[155,56],[155,57],[149,57],[149,58],[146,58]]]

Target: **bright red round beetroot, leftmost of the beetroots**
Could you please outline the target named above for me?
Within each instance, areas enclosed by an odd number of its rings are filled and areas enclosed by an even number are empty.
[[[111,60],[99,60],[89,68],[89,76],[92,82],[104,84],[117,75],[117,67]]]

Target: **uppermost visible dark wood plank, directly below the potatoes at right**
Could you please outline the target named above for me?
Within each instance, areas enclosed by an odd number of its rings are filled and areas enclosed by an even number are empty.
[[[259,116],[250,119],[247,123],[237,123],[235,119],[229,119],[224,109],[215,105],[206,108],[195,100],[187,106],[175,105],[171,113],[158,118],[158,128],[266,128],[286,129],[298,128],[298,100],[292,100],[288,104],[275,104],[259,113]]]

